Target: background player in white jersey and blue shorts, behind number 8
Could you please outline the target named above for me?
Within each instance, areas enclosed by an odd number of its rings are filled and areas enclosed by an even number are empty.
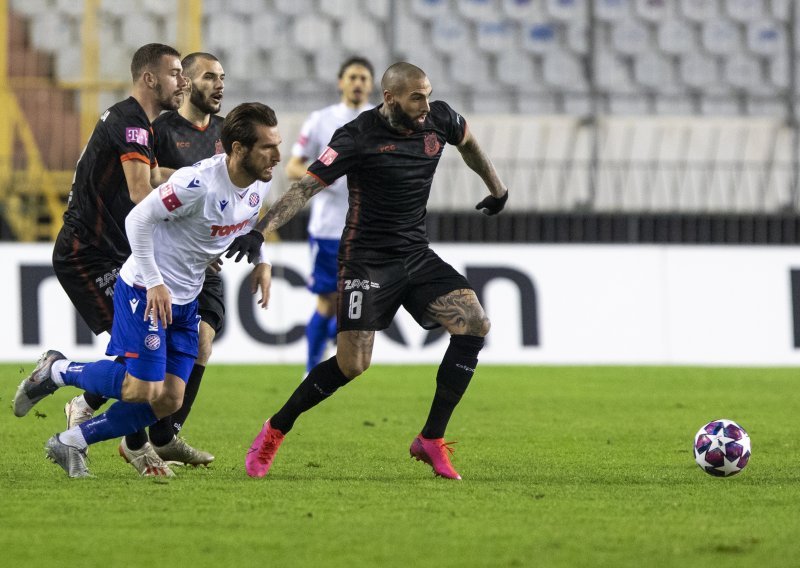
[[[308,163],[319,156],[334,131],[372,108],[372,64],[363,57],[351,57],[339,67],[341,100],[311,113],[292,146],[286,175],[292,181],[306,173]],[[341,177],[316,199],[311,200],[308,240],[311,245],[311,276],[308,289],[317,295],[314,314],[306,324],[308,358],[306,373],[320,362],[328,340],[336,337],[336,255],[347,214],[347,178]]]

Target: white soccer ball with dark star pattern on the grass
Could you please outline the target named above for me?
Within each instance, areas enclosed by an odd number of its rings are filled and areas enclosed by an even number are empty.
[[[695,434],[694,461],[709,475],[736,475],[750,461],[750,436],[733,420],[712,420]]]

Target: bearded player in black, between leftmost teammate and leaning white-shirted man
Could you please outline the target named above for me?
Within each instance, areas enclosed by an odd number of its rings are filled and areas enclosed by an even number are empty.
[[[153,121],[155,156],[159,166],[165,168],[165,171],[190,166],[224,151],[220,139],[223,119],[217,115],[225,87],[225,71],[222,64],[214,55],[201,52],[187,55],[181,64],[183,74],[189,82],[189,94],[184,98],[179,110],[169,110]],[[212,268],[206,271],[198,303],[198,313],[201,317],[200,343],[198,356],[184,392],[183,406],[172,416],[162,418],[150,427],[149,441],[153,450],[165,462],[208,465],[214,461],[212,454],[191,447],[178,436],[197,396],[211,355],[211,344],[215,335],[222,329],[225,316],[222,279]],[[105,402],[105,398],[92,393],[75,397],[65,408],[68,427],[90,418],[92,413]],[[120,446],[120,454],[142,475],[148,475],[150,471],[146,468],[140,470],[140,466],[147,464],[135,458],[147,445],[147,433],[141,431],[126,436]]]

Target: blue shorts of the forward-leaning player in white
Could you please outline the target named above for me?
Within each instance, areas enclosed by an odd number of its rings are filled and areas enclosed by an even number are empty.
[[[144,320],[147,290],[128,286],[122,278],[114,285],[114,322],[106,355],[125,357],[128,373],[143,381],[163,381],[169,373],[183,381],[197,358],[197,300],[172,304],[172,323]]]

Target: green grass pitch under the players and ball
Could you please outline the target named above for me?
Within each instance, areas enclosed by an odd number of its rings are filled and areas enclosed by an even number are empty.
[[[217,459],[159,482],[115,441],[92,447],[92,479],[46,461],[77,391],[15,418],[30,367],[0,366],[3,566],[800,565],[796,369],[483,365],[448,430],[455,482],[408,455],[435,366],[376,365],[253,480],[246,448],[301,370],[212,365],[184,434]],[[714,418],[750,433],[736,477],[692,458]]]

